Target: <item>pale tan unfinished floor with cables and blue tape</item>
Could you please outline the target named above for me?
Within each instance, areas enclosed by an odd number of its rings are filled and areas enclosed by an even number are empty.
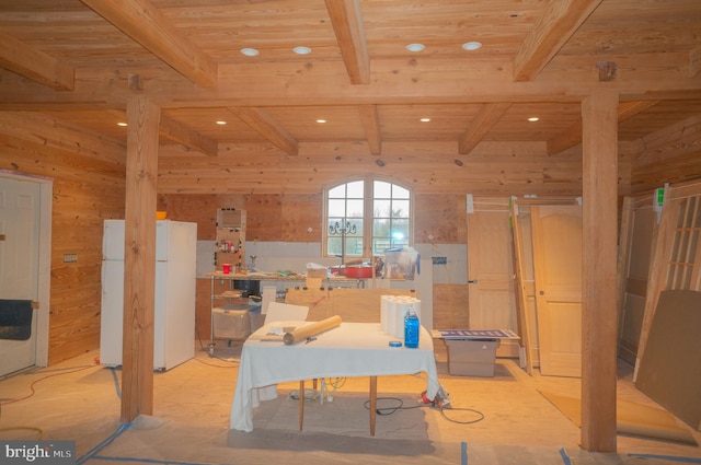
[[[378,418],[375,438],[369,431],[343,432],[338,427],[349,425],[352,416],[358,416],[363,423],[368,418],[359,404],[357,409],[338,414],[342,418],[332,418],[323,431],[299,432],[292,414],[285,429],[278,423],[276,429],[263,426],[252,433],[233,432],[229,430],[229,410],[240,350],[240,344],[227,347],[220,342],[216,357],[210,358],[198,348],[195,359],[156,373],[153,415],[131,423],[119,420],[122,372],[96,364],[97,351],[16,374],[0,381],[0,439],[74,440],[78,463],[85,464],[701,463],[697,445],[621,434],[617,454],[584,452],[578,445],[579,429],[539,393],[578,396],[579,380],[529,376],[509,359],[497,359],[494,377],[451,376],[439,350],[440,382],[453,408],[444,412],[429,407],[415,409],[414,420],[423,415],[420,428],[410,428],[409,417],[402,417],[405,412],[400,410]],[[632,369],[621,364],[619,398],[655,406],[631,379]],[[286,393],[297,386],[291,383],[279,390]],[[378,381],[378,396],[397,395],[404,407],[416,406],[425,386],[421,373],[383,376]],[[347,379],[334,400],[360,398],[367,392],[367,377]],[[297,403],[285,398],[274,402]],[[310,425],[314,408],[325,407],[312,404],[308,403],[306,410]],[[263,414],[255,415],[254,425],[265,425],[256,419]],[[689,431],[701,442],[701,433]]]

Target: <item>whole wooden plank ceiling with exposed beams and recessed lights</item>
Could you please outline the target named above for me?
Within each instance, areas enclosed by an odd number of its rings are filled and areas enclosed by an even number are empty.
[[[295,54],[300,46],[309,54]],[[0,111],[125,140],[126,98],[149,95],[162,107],[162,139],[210,156],[222,143],[287,155],[309,142],[356,143],[381,155],[386,142],[413,141],[455,143],[455,156],[483,141],[541,141],[552,155],[581,142],[579,102],[596,86],[620,94],[622,141],[699,115],[701,8],[0,0]]]

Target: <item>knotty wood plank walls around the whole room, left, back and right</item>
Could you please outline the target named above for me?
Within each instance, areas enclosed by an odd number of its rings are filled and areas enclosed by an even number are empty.
[[[633,190],[641,191],[666,179],[700,177],[699,126],[692,118],[677,130],[660,131],[646,143],[627,143],[619,163],[620,194],[628,193],[629,182]],[[324,183],[344,173],[391,172],[416,187],[415,229],[420,243],[432,242],[432,235],[436,243],[464,244],[468,193],[521,195],[539,190],[540,195],[572,195],[581,189],[581,154],[576,148],[552,156],[547,168],[535,171],[529,166],[536,160],[532,154],[540,150],[535,144],[487,143],[475,149],[463,166],[457,166],[452,156],[436,166],[434,156],[422,163],[420,155],[445,156],[455,153],[455,147],[388,143],[383,147],[387,155],[382,155],[384,171],[377,167],[374,159],[354,153],[352,148],[309,148],[310,156],[294,175],[266,184],[266,173],[284,172],[291,161],[280,166],[280,159],[285,158],[271,158],[269,148],[223,147],[221,158],[232,171],[222,171],[212,178],[223,183],[225,187],[217,188],[207,177],[197,177],[204,173],[200,170],[219,167],[212,158],[161,147],[164,159],[159,164],[159,209],[169,211],[173,220],[197,222],[200,240],[215,237],[216,209],[227,206],[249,212],[250,240],[319,242],[321,231],[314,224],[321,224],[320,193]],[[646,148],[653,151],[645,152]],[[512,153],[512,161],[492,163],[491,151]],[[124,218],[125,153],[126,142],[68,127],[36,113],[0,112],[0,168],[54,178],[49,363],[99,347],[102,223],[105,219]],[[240,165],[243,167],[237,171]],[[318,168],[323,176],[314,175]],[[217,189],[226,193],[227,183],[246,176],[251,186],[258,186],[251,189],[254,194],[214,194]],[[294,181],[296,188],[288,188],[286,181]],[[299,191],[299,186],[306,191]],[[309,226],[311,233],[307,231]],[[68,253],[78,254],[77,264],[62,263]],[[197,289],[206,295],[208,309],[208,287]],[[206,337],[208,340],[208,328]]]

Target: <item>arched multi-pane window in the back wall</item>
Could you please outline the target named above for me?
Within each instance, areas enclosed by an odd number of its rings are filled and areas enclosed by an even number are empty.
[[[324,191],[324,255],[369,257],[413,243],[412,193],[379,178],[354,179]]]

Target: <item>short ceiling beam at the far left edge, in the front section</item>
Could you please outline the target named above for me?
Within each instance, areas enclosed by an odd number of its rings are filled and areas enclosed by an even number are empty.
[[[0,33],[0,67],[57,91],[74,89],[73,67]]]

